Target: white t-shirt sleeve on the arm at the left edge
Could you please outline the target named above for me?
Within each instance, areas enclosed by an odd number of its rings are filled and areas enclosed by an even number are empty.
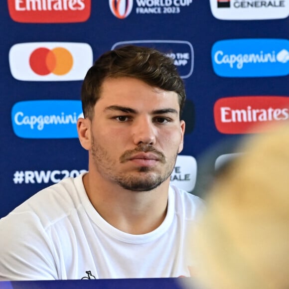
[[[58,279],[53,244],[34,213],[10,213],[0,232],[0,281]]]

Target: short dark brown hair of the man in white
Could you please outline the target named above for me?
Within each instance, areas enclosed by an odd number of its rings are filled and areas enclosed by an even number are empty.
[[[185,90],[173,60],[153,48],[126,45],[101,55],[88,70],[81,89],[84,116],[92,119],[106,78],[133,77],[146,84],[178,95],[180,115]]]

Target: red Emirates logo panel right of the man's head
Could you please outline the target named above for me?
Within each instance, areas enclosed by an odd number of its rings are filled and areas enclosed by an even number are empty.
[[[289,97],[237,96],[221,98],[214,105],[217,130],[223,134],[261,133],[275,122],[289,119]]]

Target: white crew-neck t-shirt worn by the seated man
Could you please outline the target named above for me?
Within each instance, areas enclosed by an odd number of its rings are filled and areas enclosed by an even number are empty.
[[[186,235],[198,197],[170,187],[162,224],[132,235],[97,213],[82,176],[41,190],[0,219],[0,280],[190,276]]]

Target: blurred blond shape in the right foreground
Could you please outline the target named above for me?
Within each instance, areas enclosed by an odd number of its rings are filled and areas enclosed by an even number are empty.
[[[205,198],[190,242],[197,264],[190,285],[289,288],[289,123],[246,138],[240,151]]]

